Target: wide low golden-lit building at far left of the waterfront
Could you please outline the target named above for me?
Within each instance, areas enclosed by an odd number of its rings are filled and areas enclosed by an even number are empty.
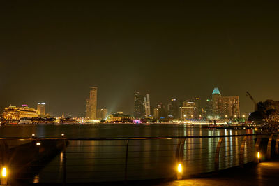
[[[9,106],[3,111],[3,118],[6,120],[20,120],[22,117],[38,117],[38,111],[27,105],[22,107]]]

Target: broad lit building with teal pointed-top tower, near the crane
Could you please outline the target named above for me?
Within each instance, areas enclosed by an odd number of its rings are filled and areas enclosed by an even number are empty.
[[[239,96],[221,96],[218,88],[212,93],[212,117],[239,117]]]

